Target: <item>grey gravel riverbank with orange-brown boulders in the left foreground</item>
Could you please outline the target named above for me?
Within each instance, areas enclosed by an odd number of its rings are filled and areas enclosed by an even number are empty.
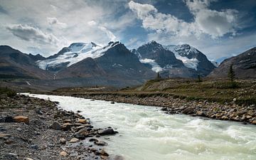
[[[122,159],[110,156],[103,136],[111,127],[95,129],[78,112],[58,109],[56,102],[1,95],[0,159]]]

